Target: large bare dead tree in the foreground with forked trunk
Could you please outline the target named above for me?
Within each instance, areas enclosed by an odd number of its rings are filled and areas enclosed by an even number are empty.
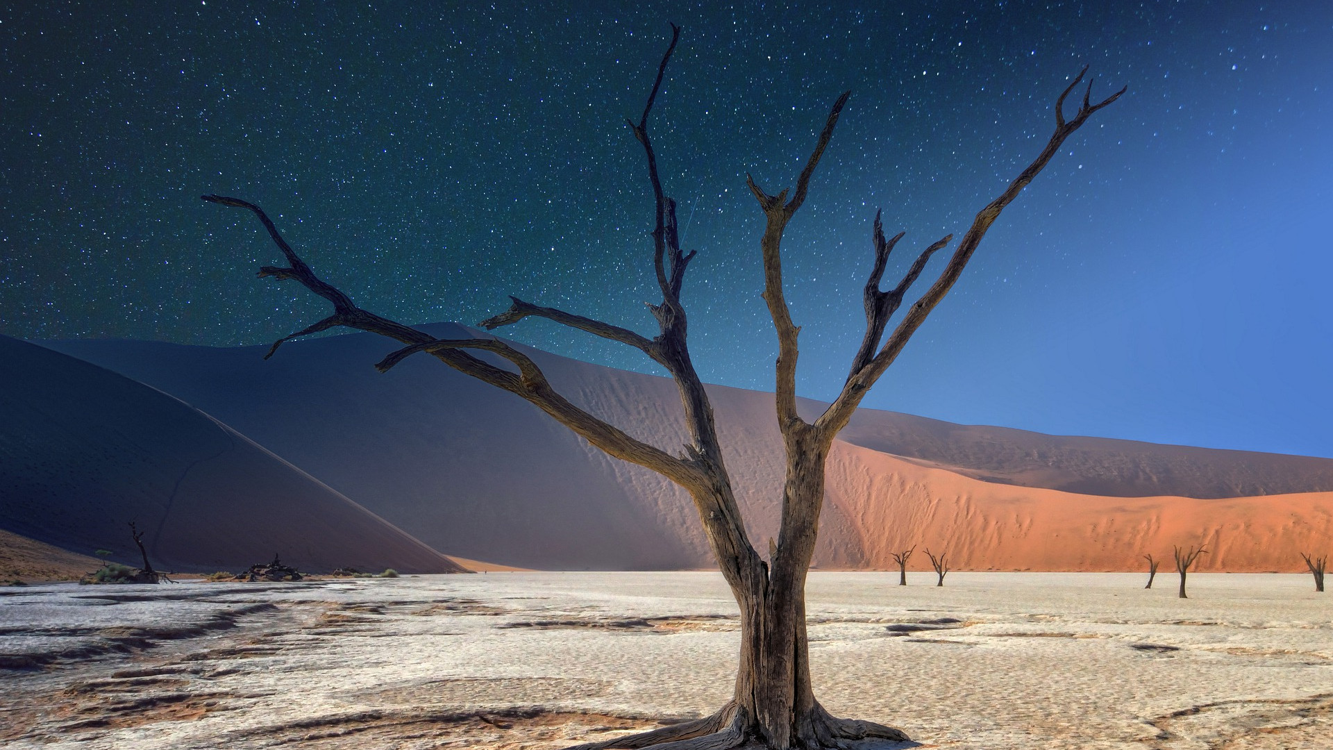
[[[740,606],[741,647],[734,694],[725,706],[706,718],[588,747],[647,747],[676,742],[672,745],[674,750],[690,747],[721,750],[746,743],[813,749],[842,746],[849,741],[864,738],[904,739],[905,735],[892,727],[832,717],[814,699],[810,689],[805,578],[814,552],[820,508],[824,503],[825,459],[833,447],[833,438],[846,426],[870,386],[898,356],[912,334],[925,322],[926,315],[957,282],[982,236],[1000,218],[1000,212],[1041,172],[1060,151],[1065,139],[1082,127],[1094,112],[1118,99],[1124,89],[1094,103],[1089,99],[1092,91],[1089,83],[1082,93],[1082,103],[1073,116],[1066,119],[1065,99],[1084,80],[1086,68],[1065,87],[1056,99],[1054,132],[1041,152],[994,200],[977,212],[938,279],[906,308],[906,314],[888,338],[885,338],[886,326],[902,303],[908,287],[917,280],[930,256],[949,244],[952,235],[922,250],[902,280],[892,290],[882,291],[880,282],[888,264],[889,251],[902,239],[902,234],[885,239],[880,216],[876,214],[872,231],[874,258],[864,291],[865,335],[860,351],[852,359],[841,392],[813,422],[802,419],[796,406],[798,328],[792,322],[786,304],[781,243],[788,223],[805,203],[810,179],[850,92],[842,93],[829,111],[814,149],[796,179],[794,191],[782,190],[772,195],[746,175],[746,184],[766,222],[760,239],[764,263],[762,296],[777,332],[776,408],[786,451],[781,524],[774,554],[770,560],[765,560],[746,535],[732,480],[722,462],[713,410],[685,344],[686,318],[681,304],[681,288],[685,282],[685,268],[696,251],[685,252],[680,247],[676,202],[664,191],[648,128],[649,113],[678,37],[680,28],[673,25],[670,44],[657,67],[657,77],[648,93],[643,115],[637,121],[629,121],[629,129],[647,156],[648,183],[652,188],[653,271],[663,299],[660,304],[651,306],[651,311],[656,318],[659,334],[648,338],[629,328],[520,299],[513,299],[513,304],[505,312],[481,322],[481,326],[493,330],[524,318],[545,318],[641,351],[674,379],[680,392],[689,443],[678,454],[640,442],[573,404],[555,390],[536,362],[501,339],[489,336],[436,339],[357,307],[347,294],[316,276],[260,207],[236,198],[219,195],[203,198],[221,206],[252,211],[264,224],[285,256],[287,266],[263,267],[259,271],[260,276],[296,280],[333,306],[333,312],[328,318],[275,342],[268,352],[269,356],[288,339],[337,326],[380,334],[401,342],[404,347],[385,356],[376,366],[379,370],[389,370],[416,354],[431,355],[460,372],[528,400],[607,454],[656,471],[689,494],[713,556]],[[473,352],[484,352],[488,356],[477,356]],[[504,366],[495,364],[497,359],[503,360]]]

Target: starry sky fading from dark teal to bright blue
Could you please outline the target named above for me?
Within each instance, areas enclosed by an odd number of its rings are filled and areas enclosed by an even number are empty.
[[[1333,456],[1326,0],[425,5],[0,9],[0,332],[233,346],[323,318],[253,278],[277,250],[199,200],[217,192],[405,323],[476,323],[515,294],[653,334],[652,202],[624,119],[674,21],[651,128],[700,251],[684,296],[705,380],[772,388],[744,175],[793,184],[841,91],[785,242],[813,398],[864,330],[876,208],[908,232],[888,276],[961,236],[1088,64],[1094,96],[1129,93],[1006,210],[865,404]],[[543,322],[503,334],[655,371]]]

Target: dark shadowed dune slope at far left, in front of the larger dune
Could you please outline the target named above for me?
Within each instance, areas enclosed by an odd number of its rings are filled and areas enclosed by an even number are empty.
[[[448,573],[456,563],[160,391],[0,336],[0,528],[161,570]]]

